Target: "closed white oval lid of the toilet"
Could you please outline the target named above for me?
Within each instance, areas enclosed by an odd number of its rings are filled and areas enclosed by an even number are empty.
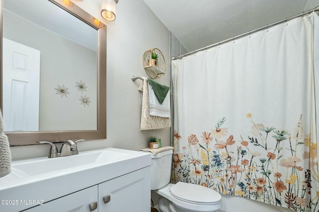
[[[215,205],[221,201],[221,195],[218,192],[191,183],[178,182],[169,191],[176,199],[192,204]]]

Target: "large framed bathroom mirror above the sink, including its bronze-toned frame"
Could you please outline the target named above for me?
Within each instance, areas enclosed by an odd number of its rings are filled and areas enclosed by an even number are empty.
[[[0,0],[11,146],[106,138],[106,26],[69,0]]]

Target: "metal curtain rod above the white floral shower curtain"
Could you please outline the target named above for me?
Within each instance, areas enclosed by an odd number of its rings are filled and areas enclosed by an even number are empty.
[[[176,60],[176,59],[178,59],[178,58],[182,58],[182,57],[185,57],[185,56],[188,56],[188,55],[192,55],[192,54],[195,54],[195,53],[197,53],[197,52],[200,52],[200,51],[203,51],[203,50],[206,50],[206,49],[213,48],[213,47],[215,47],[215,46],[219,46],[219,45],[224,44],[224,43],[228,43],[229,41],[237,40],[238,38],[244,37],[244,36],[246,36],[246,35],[250,35],[250,34],[252,34],[252,33],[255,33],[255,32],[258,32],[258,31],[267,29],[267,28],[269,28],[269,27],[272,27],[272,26],[275,26],[275,25],[284,23],[284,22],[286,22],[286,21],[292,20],[292,19],[294,19],[294,18],[307,15],[307,14],[309,14],[309,13],[312,13],[313,11],[319,11],[319,6],[313,8],[313,9],[310,9],[310,10],[308,10],[308,11],[304,11],[304,12],[301,12],[301,13],[299,13],[299,14],[293,15],[293,16],[291,16],[291,17],[285,18],[285,19],[283,19],[283,20],[280,20],[280,21],[277,21],[277,22],[268,24],[268,25],[266,25],[266,26],[263,26],[263,27],[254,29],[254,30],[252,30],[252,31],[249,31],[249,32],[246,32],[246,33],[237,35],[237,36],[235,36],[235,37],[228,38],[228,39],[223,40],[223,41],[221,41],[221,42],[218,42],[218,43],[215,43],[215,44],[212,44],[212,45],[209,45],[209,46],[206,46],[206,47],[203,47],[203,48],[194,50],[194,51],[192,51],[192,52],[188,52],[188,53],[186,53],[186,54],[183,54],[183,55],[180,55],[180,56],[177,56],[177,57],[172,57],[171,59],[172,59],[172,60]]]

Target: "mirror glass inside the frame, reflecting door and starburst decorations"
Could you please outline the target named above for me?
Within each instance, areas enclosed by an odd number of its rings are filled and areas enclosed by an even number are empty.
[[[5,131],[97,129],[96,29],[48,0],[4,0],[3,38]]]

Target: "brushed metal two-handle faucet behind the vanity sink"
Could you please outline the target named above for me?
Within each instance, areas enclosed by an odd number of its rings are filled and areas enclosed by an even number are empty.
[[[57,151],[56,145],[52,142],[40,141],[39,143],[51,145],[48,157],[63,157],[63,156],[78,154],[79,152],[78,152],[78,147],[76,143],[79,141],[85,141],[85,140],[83,139],[80,139],[77,141],[68,140],[63,142],[59,152]]]

